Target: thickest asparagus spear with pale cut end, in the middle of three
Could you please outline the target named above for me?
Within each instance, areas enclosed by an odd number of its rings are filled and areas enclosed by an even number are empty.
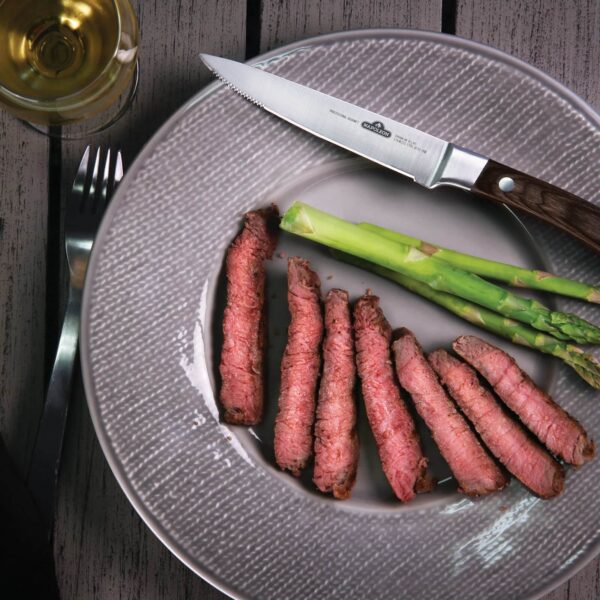
[[[388,240],[302,202],[292,204],[283,215],[280,227],[485,306],[558,339],[600,342],[600,328],[576,315],[548,310],[536,300],[518,296],[417,248]]]

